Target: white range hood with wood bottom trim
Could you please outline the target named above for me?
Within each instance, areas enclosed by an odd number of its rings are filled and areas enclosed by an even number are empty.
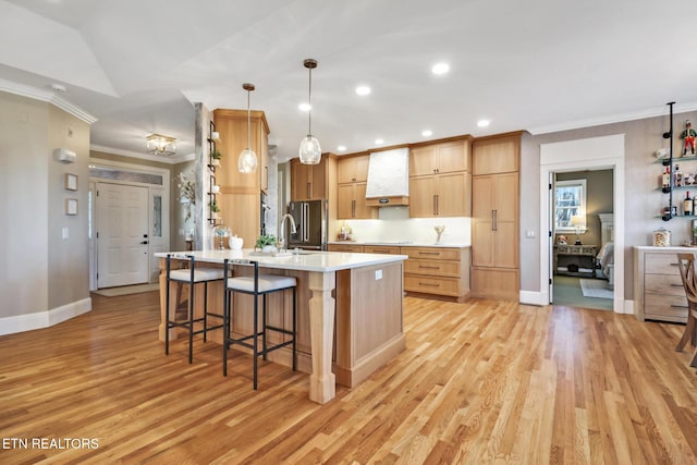
[[[409,149],[370,154],[366,205],[396,207],[409,205]]]

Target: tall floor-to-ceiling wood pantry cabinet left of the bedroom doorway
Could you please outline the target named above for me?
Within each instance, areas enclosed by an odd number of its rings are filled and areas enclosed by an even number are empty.
[[[518,159],[519,134],[473,145],[472,293],[478,297],[518,299]]]

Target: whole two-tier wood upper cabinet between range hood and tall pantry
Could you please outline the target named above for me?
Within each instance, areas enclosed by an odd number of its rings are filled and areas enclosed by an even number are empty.
[[[409,156],[409,217],[468,217],[472,138],[419,145]]]

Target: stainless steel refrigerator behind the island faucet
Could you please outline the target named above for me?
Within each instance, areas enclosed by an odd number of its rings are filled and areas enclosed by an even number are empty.
[[[288,212],[295,221],[295,233],[285,222],[289,249],[327,250],[327,200],[291,201]]]

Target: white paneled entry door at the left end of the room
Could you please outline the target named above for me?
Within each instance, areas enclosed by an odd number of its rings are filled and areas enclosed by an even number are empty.
[[[97,183],[97,285],[148,282],[147,187]]]

